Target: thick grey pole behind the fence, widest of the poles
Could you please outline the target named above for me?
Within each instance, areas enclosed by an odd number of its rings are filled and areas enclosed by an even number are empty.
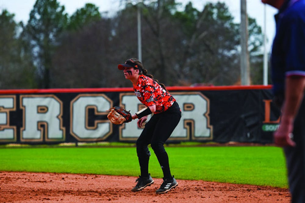
[[[240,0],[240,77],[241,85],[250,84],[250,67],[249,67],[249,52],[248,52],[248,16],[246,0]]]

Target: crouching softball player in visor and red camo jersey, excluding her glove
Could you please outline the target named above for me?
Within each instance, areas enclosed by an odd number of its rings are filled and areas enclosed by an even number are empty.
[[[132,115],[132,119],[138,118],[138,128],[142,128],[148,115],[153,113],[136,142],[141,175],[131,191],[140,191],[154,182],[148,172],[150,144],[163,171],[163,183],[156,193],[166,193],[178,183],[170,173],[168,155],[163,145],[180,121],[180,107],[163,84],[152,75],[147,75],[147,70],[138,59],[128,59],[124,64],[119,64],[118,68],[123,70],[125,79],[132,82],[136,96],[146,106]]]

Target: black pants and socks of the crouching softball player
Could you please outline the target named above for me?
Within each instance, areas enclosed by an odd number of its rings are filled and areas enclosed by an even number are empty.
[[[163,145],[178,125],[180,118],[180,107],[177,102],[174,102],[165,112],[154,114],[145,124],[145,128],[137,140],[137,155],[142,177],[149,176],[150,152],[148,145],[150,144],[160,163],[164,178],[172,178],[168,155]]]

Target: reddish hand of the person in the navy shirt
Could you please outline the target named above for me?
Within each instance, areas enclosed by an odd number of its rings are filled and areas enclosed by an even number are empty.
[[[274,143],[276,146],[285,147],[292,146],[294,147],[296,143],[292,140],[293,138],[293,122],[282,120],[278,130],[274,132]]]

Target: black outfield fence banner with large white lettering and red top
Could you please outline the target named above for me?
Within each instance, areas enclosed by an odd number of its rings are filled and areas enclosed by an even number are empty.
[[[167,142],[273,142],[280,111],[271,86],[167,89],[182,112]],[[144,107],[132,88],[0,90],[0,144],[135,142],[137,120],[110,123],[113,106],[131,113]]]

